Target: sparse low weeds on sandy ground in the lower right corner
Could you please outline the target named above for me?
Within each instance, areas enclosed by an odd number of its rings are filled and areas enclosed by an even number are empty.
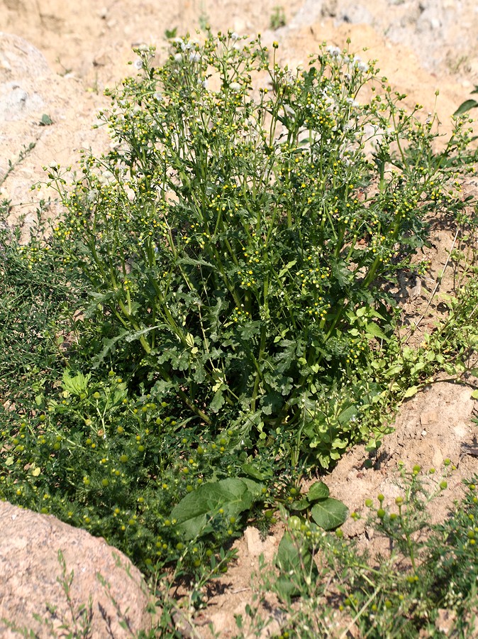
[[[446,460],[445,475],[449,469]],[[277,552],[287,580],[262,565],[257,605],[248,608],[248,620],[238,619],[239,626],[247,625],[248,635],[259,634],[267,625],[260,599],[274,592],[283,602],[281,637],[335,638],[350,631],[370,638],[442,636],[440,609],[450,613],[456,636],[473,636],[478,603],[474,480],[467,481],[465,498],[445,523],[431,525],[427,506],[447,482],[443,476],[435,479],[433,469],[424,474],[418,466],[411,471],[401,466],[403,496],[396,498],[395,508],[387,508],[382,495],[378,508],[367,500],[373,512],[369,525],[389,540],[384,555],[359,551],[340,529],[330,534],[292,520]]]

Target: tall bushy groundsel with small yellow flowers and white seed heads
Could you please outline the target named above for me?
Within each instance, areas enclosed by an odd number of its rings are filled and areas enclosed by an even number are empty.
[[[104,322],[96,364],[123,361],[199,430],[327,467],[370,436],[390,384],[372,362],[396,349],[384,283],[455,202],[469,133],[433,151],[435,119],[348,50],[291,72],[260,38],[171,46],[110,92],[112,150],[72,189],[49,169],[56,241]]]

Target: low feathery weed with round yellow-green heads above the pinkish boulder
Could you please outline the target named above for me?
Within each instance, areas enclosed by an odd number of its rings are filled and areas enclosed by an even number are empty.
[[[1,497],[105,537],[143,569],[180,559],[201,572],[262,498],[259,484],[234,479],[240,460],[227,433],[198,437],[166,403],[129,398],[113,371],[106,381],[66,371],[59,396],[39,395],[35,406],[1,431]],[[244,488],[242,508],[230,510],[226,484]],[[189,493],[203,508],[193,533],[182,516]]]

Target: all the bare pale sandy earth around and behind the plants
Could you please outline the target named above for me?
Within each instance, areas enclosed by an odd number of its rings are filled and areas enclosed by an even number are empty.
[[[50,162],[74,165],[82,148],[107,148],[103,131],[93,130],[96,112],[106,107],[104,88],[128,75],[133,46],[157,45],[165,55],[165,30],[178,34],[194,31],[208,22],[213,31],[262,33],[266,45],[279,41],[283,62],[292,67],[306,62],[309,53],[326,40],[343,47],[347,38],[362,57],[379,60],[382,73],[399,91],[408,94],[408,105],[423,104],[435,110],[435,91],[440,89],[436,111],[443,131],[450,129],[450,115],[478,84],[478,9],[474,0],[406,1],[289,0],[286,26],[272,31],[270,19],[277,0],[0,0],[0,182],[16,162],[18,153],[34,144],[26,160],[4,180],[0,198],[11,200],[11,222],[22,216],[33,219],[39,195],[30,185],[43,179],[42,165]],[[9,35],[6,35],[9,34]],[[23,38],[23,39],[22,39]],[[32,46],[33,45],[33,46]],[[367,47],[367,53],[362,48]],[[48,114],[51,126],[40,126]],[[476,189],[474,180],[468,185]],[[45,197],[46,192],[41,193]],[[50,207],[55,214],[55,202]],[[453,237],[438,229],[435,249],[427,257],[433,263],[428,279],[404,283],[404,312],[409,322],[421,320],[430,330],[439,315],[437,302],[428,300],[440,277]],[[445,278],[442,291],[451,288]],[[420,332],[419,332],[420,334]],[[447,381],[434,383],[401,407],[395,432],[387,435],[372,468],[368,454],[357,447],[340,461],[326,478],[330,493],[342,499],[350,511],[364,510],[365,498],[382,492],[386,503],[398,494],[396,466],[440,468],[446,457],[457,466],[449,489],[434,502],[433,520],[443,520],[460,498],[462,479],[478,472],[478,457],[462,454],[462,444],[476,443],[477,426],[472,422],[474,400],[471,388]],[[382,540],[366,529],[364,520],[350,520],[346,535],[357,537],[372,551]],[[252,601],[251,574],[258,556],[272,559],[280,530],[262,542],[248,528],[235,546],[238,562],[230,568],[211,596],[209,606],[196,617],[191,636],[208,636],[210,621],[221,637],[237,633],[234,614],[244,613]],[[271,602],[274,616],[274,602]],[[185,631],[188,629],[184,626]],[[277,621],[270,631],[277,632]]]

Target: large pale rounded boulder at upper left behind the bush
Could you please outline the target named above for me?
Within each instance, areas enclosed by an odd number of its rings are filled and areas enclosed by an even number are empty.
[[[0,32],[0,202],[10,202],[10,224],[24,219],[24,239],[40,198],[50,198],[51,217],[60,212],[55,191],[31,190],[46,181],[43,165],[74,166],[82,149],[99,153],[109,145],[106,131],[92,128],[105,102],[74,77],[52,73],[26,40]]]

